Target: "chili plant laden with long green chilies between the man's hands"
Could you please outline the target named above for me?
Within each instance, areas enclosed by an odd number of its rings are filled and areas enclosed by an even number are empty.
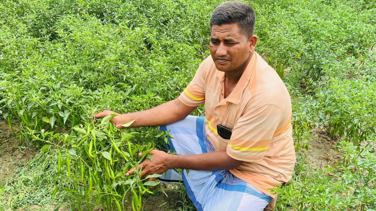
[[[152,160],[151,143],[132,143],[131,138],[136,132],[128,133],[118,130],[109,122],[115,116],[107,116],[99,124],[86,122],[73,130],[77,136],[69,134],[53,134],[31,131],[34,141],[47,139],[48,145],[42,150],[54,150],[58,154],[56,161],[56,179],[52,198],[59,188],[76,195],[77,199],[85,198],[89,210],[93,205],[102,204],[106,210],[124,210],[127,206],[133,211],[139,211],[142,205],[142,195],[153,193],[148,187],[159,184],[156,181],[146,181],[160,175],[149,175],[140,178],[141,170],[134,175],[126,176],[133,167],[146,158]],[[124,124],[129,126],[132,122]],[[59,142],[51,139],[59,139]],[[48,140],[49,139],[49,140]],[[138,156],[142,153],[142,156]],[[96,201],[92,202],[94,197]],[[77,209],[80,203],[77,200]]]

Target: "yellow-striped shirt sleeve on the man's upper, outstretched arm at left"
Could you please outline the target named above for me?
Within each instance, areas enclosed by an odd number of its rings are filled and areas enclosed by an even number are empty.
[[[205,103],[205,68],[201,63],[191,82],[180,94],[179,99],[183,104],[196,107]]]

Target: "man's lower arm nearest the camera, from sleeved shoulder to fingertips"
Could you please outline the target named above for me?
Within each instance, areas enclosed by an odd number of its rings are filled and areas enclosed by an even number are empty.
[[[271,139],[277,136],[283,111],[273,104],[250,108],[241,116],[232,130],[227,151],[198,155],[170,155],[162,151],[151,152],[153,162],[146,159],[139,165],[142,177],[161,174],[167,169],[193,169],[204,171],[236,169],[244,161],[262,160]],[[281,128],[280,128],[281,129]],[[132,174],[134,169],[127,172]]]

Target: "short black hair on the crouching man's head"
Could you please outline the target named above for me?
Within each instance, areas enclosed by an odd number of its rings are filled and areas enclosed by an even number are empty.
[[[241,32],[253,35],[255,29],[255,11],[243,2],[230,1],[221,3],[214,9],[210,18],[210,30],[213,25],[238,23]]]

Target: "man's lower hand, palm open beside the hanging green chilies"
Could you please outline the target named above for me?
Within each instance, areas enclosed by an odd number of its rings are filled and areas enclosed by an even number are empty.
[[[152,174],[162,174],[170,168],[169,164],[171,163],[171,156],[173,155],[159,150],[152,150],[150,151],[150,154],[152,155],[153,161],[150,161],[150,159],[147,158],[144,162],[138,165],[138,170],[142,168],[141,178],[146,178],[148,175]],[[142,156],[141,153],[138,155]],[[126,175],[133,174],[135,170],[135,168],[129,170]],[[155,178],[149,178],[148,181],[153,179]]]

